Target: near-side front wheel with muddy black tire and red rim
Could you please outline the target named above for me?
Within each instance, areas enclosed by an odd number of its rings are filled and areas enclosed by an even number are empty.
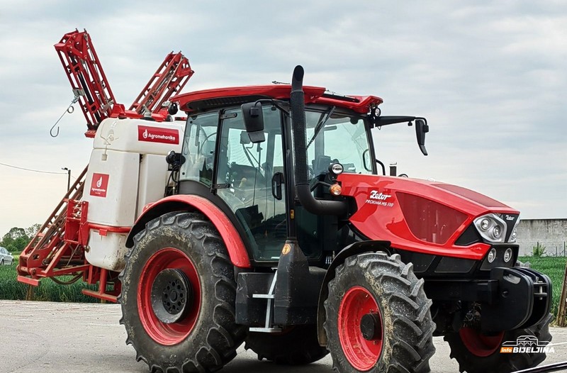
[[[325,301],[327,349],[341,373],[429,372],[432,302],[399,255],[365,253],[336,269]]]

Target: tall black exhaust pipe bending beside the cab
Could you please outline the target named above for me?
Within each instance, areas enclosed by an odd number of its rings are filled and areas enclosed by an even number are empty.
[[[293,69],[291,78],[291,121],[293,130],[293,153],[296,160],[296,192],[301,206],[318,215],[346,215],[347,204],[343,201],[315,199],[309,190],[307,165],[307,128],[305,128],[305,94],[303,93],[303,67]]]

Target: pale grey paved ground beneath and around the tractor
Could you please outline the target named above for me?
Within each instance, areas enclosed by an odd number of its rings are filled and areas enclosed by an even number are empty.
[[[0,301],[0,372],[149,372],[135,361],[135,352],[125,345],[126,333],[118,324],[116,304],[62,304],[49,302]],[[567,360],[567,329],[552,328],[555,353],[546,363]],[[459,372],[441,338],[434,338],[437,353],[431,360],[433,373]],[[330,357],[294,373],[332,372]],[[223,373],[289,372],[256,355],[238,350]]]

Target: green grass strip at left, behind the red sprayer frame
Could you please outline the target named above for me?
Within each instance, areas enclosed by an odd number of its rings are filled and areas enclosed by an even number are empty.
[[[24,300],[28,285],[16,280],[16,260],[12,265],[0,266],[0,299]],[[55,302],[77,302],[91,303],[98,301],[91,296],[81,293],[84,288],[94,289],[94,286],[86,286],[80,280],[71,285],[60,285],[52,282],[51,279],[42,279],[40,286],[34,286],[34,301],[55,301]]]

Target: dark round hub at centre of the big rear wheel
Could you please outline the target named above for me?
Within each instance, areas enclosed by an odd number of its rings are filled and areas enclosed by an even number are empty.
[[[181,269],[164,269],[152,284],[152,309],[162,323],[176,323],[191,308],[191,284]]]

